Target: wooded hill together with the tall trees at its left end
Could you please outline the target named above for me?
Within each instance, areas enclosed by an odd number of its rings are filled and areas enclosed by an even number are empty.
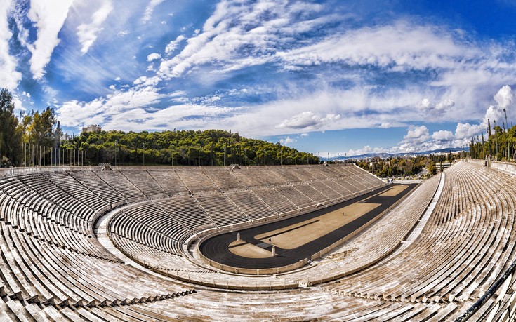
[[[318,163],[312,154],[225,130],[81,133],[61,140],[55,111],[14,114],[13,96],[0,91],[0,166],[96,165],[229,166]],[[87,120],[85,120],[87,121]]]

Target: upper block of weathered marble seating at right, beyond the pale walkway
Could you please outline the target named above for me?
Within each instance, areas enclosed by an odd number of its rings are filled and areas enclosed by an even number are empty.
[[[446,170],[442,197],[416,242],[327,289],[355,297],[459,302],[467,308],[516,257],[515,199],[513,177],[458,163]]]

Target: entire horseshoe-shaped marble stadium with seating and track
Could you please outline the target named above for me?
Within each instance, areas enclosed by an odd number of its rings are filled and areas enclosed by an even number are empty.
[[[3,169],[0,320],[513,321],[504,166]]]

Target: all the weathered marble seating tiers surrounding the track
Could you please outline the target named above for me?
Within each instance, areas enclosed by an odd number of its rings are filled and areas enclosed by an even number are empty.
[[[450,318],[482,295],[515,257],[511,215],[516,183],[472,164],[459,163],[446,174],[442,199],[411,246],[338,283],[289,290],[279,289],[300,281],[321,283],[322,271],[342,274],[370,264],[366,257],[389,253],[421,217],[439,178],[423,183],[395,211],[312,268],[259,277],[200,267],[183,256],[183,243],[204,229],[345,199],[376,189],[381,180],[356,166],[148,168],[6,178],[0,180],[0,319]],[[124,264],[95,238],[98,216],[128,203],[136,204],[112,217],[111,238],[136,262],[171,279]],[[204,287],[192,291],[189,281],[202,281]],[[260,283],[270,290],[253,292]],[[241,291],[221,291],[238,287]]]

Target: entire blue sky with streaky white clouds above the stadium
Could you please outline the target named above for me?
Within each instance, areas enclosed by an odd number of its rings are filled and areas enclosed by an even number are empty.
[[[514,119],[516,1],[0,0],[0,87],[65,131],[221,128],[326,156]]]

